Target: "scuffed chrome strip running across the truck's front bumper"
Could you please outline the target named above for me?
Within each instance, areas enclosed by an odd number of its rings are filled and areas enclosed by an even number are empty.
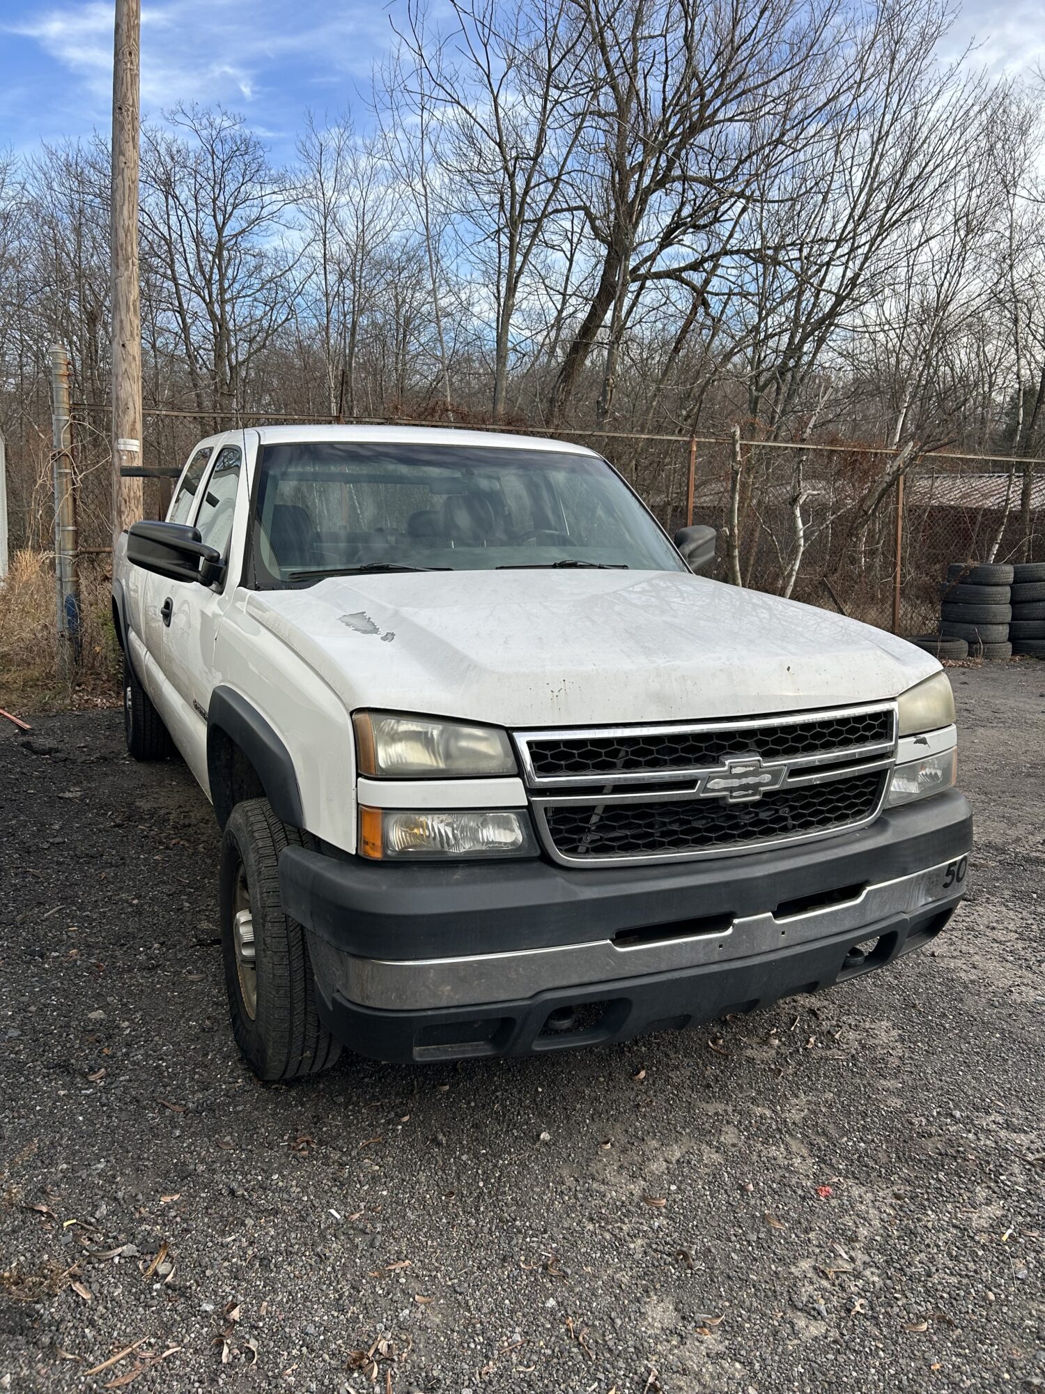
[[[953,901],[940,863],[896,881],[865,887],[851,901],[776,919],[771,913],[733,920],[723,930],[687,938],[658,940],[620,948],[610,940],[564,944],[556,948],[477,953],[442,959],[364,959],[340,953],[312,937],[309,949],[327,981],[351,1002],[387,1011],[489,1004],[532,997],[559,987],[641,977],[673,969],[698,967],[768,953],[812,940],[860,930],[897,913],[910,913],[935,901]],[[964,889],[964,887],[961,887]]]

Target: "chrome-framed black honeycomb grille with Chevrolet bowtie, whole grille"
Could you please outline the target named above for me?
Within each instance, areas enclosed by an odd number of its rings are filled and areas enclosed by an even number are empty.
[[[516,744],[553,860],[732,856],[875,818],[896,760],[896,710],[517,732]]]

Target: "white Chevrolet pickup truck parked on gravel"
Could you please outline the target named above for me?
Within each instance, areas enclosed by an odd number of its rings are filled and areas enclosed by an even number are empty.
[[[939,664],[695,576],[557,441],[266,427],[202,441],[113,569],[127,746],[219,827],[262,1079],[521,1055],[890,963],[971,846]]]

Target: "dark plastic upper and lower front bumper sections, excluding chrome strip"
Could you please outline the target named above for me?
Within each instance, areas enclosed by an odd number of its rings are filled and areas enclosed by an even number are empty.
[[[288,848],[280,889],[316,960],[435,959],[612,938],[722,914],[775,912],[856,882],[899,880],[966,855],[968,804],[956,792],[883,814],[869,828],[805,846],[619,870],[545,861],[383,866]],[[379,1059],[522,1055],[683,1027],[811,993],[928,942],[960,899],[773,952],[518,1001],[389,1011],[348,1001],[318,979],[320,1011],[353,1050]],[[878,938],[871,953],[851,951]]]

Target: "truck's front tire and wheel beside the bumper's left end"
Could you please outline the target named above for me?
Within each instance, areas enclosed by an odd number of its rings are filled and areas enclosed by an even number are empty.
[[[235,1043],[258,1079],[318,1075],[341,1052],[316,1011],[305,931],[283,913],[279,856],[302,845],[268,799],[237,803],[222,836],[222,956]]]

